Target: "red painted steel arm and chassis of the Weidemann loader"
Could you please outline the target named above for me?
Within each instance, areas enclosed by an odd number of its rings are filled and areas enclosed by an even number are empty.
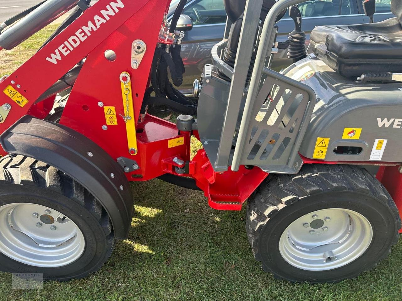
[[[78,75],[70,94],[61,124],[92,139],[113,158],[127,157],[135,160],[139,169],[127,173],[129,181],[146,181],[163,175],[175,173],[174,157],[189,161],[189,172],[182,176],[192,177],[209,199],[209,205],[215,209],[240,210],[242,203],[267,177],[267,173],[259,168],[246,169],[241,167],[238,172],[230,169],[223,173],[213,170],[204,150],[190,160],[190,135],[198,137],[198,133],[178,132],[176,125],[160,118],[146,115],[139,120],[144,92],[149,85],[149,73],[154,49],[164,13],[170,0],[121,0],[124,8],[112,16],[107,24],[101,24],[84,41],[68,55],[53,64],[46,60],[51,53],[62,45],[69,37],[76,35],[82,26],[88,25],[100,10],[105,9],[110,2],[118,0],[99,0],[88,8],[75,22],[57,35],[45,47],[39,50],[31,59],[21,65],[7,79],[0,83],[0,104],[9,103],[12,110],[4,123],[0,124],[0,132],[4,132],[21,116],[30,114],[37,118],[45,118],[53,106],[53,99],[35,102],[53,83],[67,73],[79,61],[86,61]],[[158,21],[160,20],[160,21]],[[146,53],[138,69],[131,68],[131,44],[141,39],[147,45]],[[115,61],[105,58],[106,50],[116,53]],[[117,117],[117,125],[103,130],[105,115],[98,102],[105,106],[115,106],[117,116],[125,115],[121,99],[120,74],[126,71],[131,76],[133,106],[135,114],[138,151],[136,155],[128,152],[127,134],[123,118]],[[12,83],[14,82],[14,83]],[[11,85],[29,102],[22,108],[14,103],[2,91]],[[20,86],[19,88],[17,87]],[[168,148],[168,140],[184,139],[184,144]],[[0,148],[0,155],[6,155]],[[336,164],[312,160],[303,157],[304,163]],[[347,164],[362,164],[349,162]],[[370,163],[371,164],[371,163]],[[385,164],[384,165],[395,165]],[[176,174],[177,175],[177,174]],[[398,167],[381,167],[378,179],[387,187],[402,212],[402,175]]]

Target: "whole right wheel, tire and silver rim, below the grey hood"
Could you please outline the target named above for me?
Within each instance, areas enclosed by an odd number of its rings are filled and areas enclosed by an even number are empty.
[[[328,212],[336,219],[324,221]],[[344,240],[328,236],[342,217],[349,227]],[[270,175],[260,185],[248,202],[246,225],[265,271],[291,282],[333,283],[385,258],[398,241],[401,220],[384,186],[365,169],[305,165],[297,175]]]

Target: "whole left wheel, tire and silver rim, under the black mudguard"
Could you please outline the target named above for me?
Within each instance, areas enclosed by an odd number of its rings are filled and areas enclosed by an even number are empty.
[[[1,271],[67,281],[107,261],[115,246],[111,221],[87,189],[55,167],[21,155],[2,158],[0,169]]]

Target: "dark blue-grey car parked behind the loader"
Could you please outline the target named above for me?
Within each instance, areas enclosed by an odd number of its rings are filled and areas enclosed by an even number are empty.
[[[179,0],[170,4],[168,18],[173,16]],[[382,21],[392,17],[391,0],[376,0],[374,21]],[[310,0],[299,5],[302,15],[302,29],[307,34],[317,25],[347,25],[368,23],[364,15],[361,0]],[[194,79],[200,77],[205,64],[211,62],[211,49],[221,41],[226,24],[226,12],[223,0],[189,0],[183,11],[193,21],[193,29],[187,31],[182,45],[182,57],[186,66],[183,85],[180,91],[191,93]],[[277,41],[285,41],[294,29],[293,20],[285,15],[277,24],[279,35]],[[273,69],[280,70],[289,65],[286,51],[279,50],[273,61]]]

